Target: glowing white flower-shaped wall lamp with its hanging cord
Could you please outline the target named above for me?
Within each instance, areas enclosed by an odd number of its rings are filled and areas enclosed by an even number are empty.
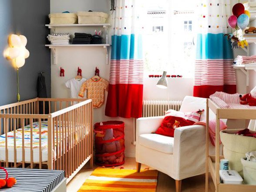
[[[27,38],[24,35],[11,34],[8,37],[9,47],[4,51],[4,56],[17,67],[17,101],[20,101],[19,94],[19,68],[25,64],[25,59],[29,57],[26,49]]]

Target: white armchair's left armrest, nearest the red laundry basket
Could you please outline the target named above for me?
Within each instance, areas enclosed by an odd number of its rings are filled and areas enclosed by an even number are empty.
[[[160,127],[164,116],[138,118],[136,121],[136,141],[141,134],[148,134]]]

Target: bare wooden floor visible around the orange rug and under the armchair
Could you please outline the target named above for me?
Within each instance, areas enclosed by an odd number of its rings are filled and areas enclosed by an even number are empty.
[[[94,168],[96,167],[97,166]],[[122,165],[122,167],[126,169],[136,168],[135,158],[125,158],[125,164]],[[146,165],[141,165],[141,170],[146,167]],[[67,192],[77,192],[92,172],[93,169],[87,168],[86,166],[82,168],[74,179],[67,184]],[[162,172],[158,172],[156,192],[175,192],[175,180]],[[182,192],[205,192],[205,175],[199,175],[182,180]],[[215,192],[211,178],[209,178],[209,192]]]

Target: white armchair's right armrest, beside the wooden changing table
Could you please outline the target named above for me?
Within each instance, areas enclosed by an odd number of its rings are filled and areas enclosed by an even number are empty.
[[[205,126],[190,125],[174,131],[173,168],[181,180],[205,172]]]

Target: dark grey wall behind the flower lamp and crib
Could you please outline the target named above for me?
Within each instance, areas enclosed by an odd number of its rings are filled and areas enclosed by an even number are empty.
[[[20,98],[37,97],[38,72],[44,71],[47,95],[51,96],[50,51],[44,47],[49,30],[50,0],[0,0],[0,105],[16,102],[16,69],[3,57],[9,34],[23,34],[27,37],[30,57],[20,68]]]

